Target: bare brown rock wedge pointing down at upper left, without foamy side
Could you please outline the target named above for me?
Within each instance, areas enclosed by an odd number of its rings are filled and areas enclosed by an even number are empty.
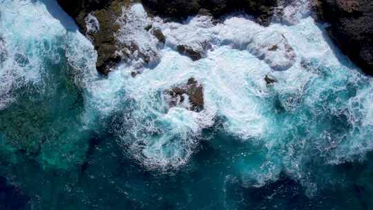
[[[79,30],[88,35],[97,50],[97,70],[107,75],[111,68],[129,51],[135,50],[133,46],[122,46],[115,39],[115,33],[119,30],[117,18],[122,15],[122,6],[128,6],[129,0],[57,0],[61,8],[73,17]],[[86,22],[88,15],[93,15],[99,23],[99,30],[87,31]],[[119,53],[117,53],[119,51]]]

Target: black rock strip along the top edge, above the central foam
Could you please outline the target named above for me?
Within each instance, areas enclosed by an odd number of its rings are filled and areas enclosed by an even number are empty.
[[[189,15],[211,14],[220,17],[228,12],[245,11],[253,15],[255,21],[268,26],[274,15],[276,0],[143,0],[142,3],[154,15],[184,19]],[[207,12],[209,11],[209,12]]]

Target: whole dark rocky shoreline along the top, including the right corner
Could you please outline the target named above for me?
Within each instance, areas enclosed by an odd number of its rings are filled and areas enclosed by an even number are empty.
[[[342,52],[350,57],[368,75],[373,75],[373,1],[370,0],[312,0],[317,21],[327,22],[329,37],[339,46]],[[122,17],[123,7],[132,3],[142,3],[149,15],[157,15],[164,19],[180,21],[189,15],[209,15],[218,18],[234,11],[245,11],[254,17],[254,21],[268,26],[275,15],[278,2],[276,0],[58,0],[61,7],[73,17],[79,30],[90,38],[97,50],[97,70],[108,75],[120,61],[128,62],[142,59],[144,64],[157,60],[157,53],[152,55],[141,53],[135,43],[122,43],[115,37],[120,30],[118,23]],[[165,37],[157,28],[145,30],[151,32],[160,44]],[[154,51],[154,50],[153,50]],[[178,46],[182,55],[193,60],[203,57],[188,46]],[[139,53],[140,52],[140,53]],[[137,72],[133,73],[133,76]]]

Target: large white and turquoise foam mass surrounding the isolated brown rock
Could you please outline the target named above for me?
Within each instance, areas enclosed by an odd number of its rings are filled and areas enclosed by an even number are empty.
[[[127,119],[133,123],[124,124],[128,126],[124,126],[126,132],[118,133],[122,144],[152,169],[179,166],[187,163],[193,153],[191,150],[195,147],[190,145],[198,144],[193,136],[211,126],[216,117],[222,117],[225,131],[244,141],[261,142],[267,148],[259,168],[244,167],[242,171],[245,180],[262,184],[284,170],[296,179],[308,180],[303,165],[309,160],[300,157],[315,150],[325,164],[341,160],[339,148],[350,140],[364,140],[365,146],[343,153],[346,160],[369,151],[371,128],[351,132],[348,121],[351,117],[344,117],[343,110],[350,109],[348,101],[355,97],[356,88],[370,88],[370,79],[358,73],[343,55],[334,54],[329,47],[331,41],[323,37],[320,29],[323,26],[318,26],[307,15],[297,17],[298,23],[292,26],[274,23],[267,28],[245,16],[227,17],[217,25],[208,17],[193,17],[185,23],[162,23],[155,19],[154,25],[166,36],[160,64],[145,68],[135,78],[130,77],[131,67],[124,65],[108,78],[108,84],[117,87],[112,88],[116,89],[115,101],[131,98],[135,103],[133,114]],[[278,38],[272,39],[270,35]],[[205,41],[209,41],[213,50],[199,61],[175,52],[178,43],[198,49]],[[274,45],[278,45],[278,51],[271,54],[269,48]],[[288,45],[291,55],[286,55],[289,49],[280,45]],[[275,66],[283,66],[283,61],[287,62],[288,69],[278,71]],[[265,75],[273,75],[278,82],[267,85]],[[162,91],[183,84],[189,77],[198,79],[204,86],[207,104],[204,111],[193,115],[189,111],[165,112]],[[118,86],[119,83],[122,85]],[[117,94],[121,93],[120,86],[126,97]],[[97,94],[101,94],[99,92]],[[178,108],[171,111],[173,109]],[[179,114],[184,116],[179,118]],[[195,119],[202,117],[209,123],[193,128],[189,123],[195,115],[200,116]],[[178,116],[179,120],[172,120],[171,116]],[[177,126],[176,122],[184,126]],[[341,128],[337,129],[336,123]],[[330,138],[338,141],[328,142]]]

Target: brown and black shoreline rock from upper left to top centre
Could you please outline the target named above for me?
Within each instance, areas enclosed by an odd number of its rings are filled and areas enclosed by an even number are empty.
[[[196,15],[198,12],[202,15],[211,15],[220,17],[221,15],[236,10],[244,10],[253,15],[255,21],[268,26],[271,17],[274,15],[276,0],[265,1],[227,1],[227,0],[209,0],[209,1],[131,1],[131,0],[79,0],[63,1],[57,0],[61,8],[73,17],[80,32],[86,34],[93,42],[97,50],[97,71],[102,75],[108,75],[113,67],[120,61],[129,61],[131,59],[142,59],[145,64],[152,62],[152,58],[144,53],[138,53],[139,48],[134,43],[124,44],[116,39],[116,34],[120,30],[118,19],[122,17],[122,7],[128,7],[132,3],[142,3],[150,15],[160,15],[161,17],[172,18],[173,20],[182,20],[189,15]],[[165,37],[157,28],[145,28],[151,30],[160,44],[164,44]],[[203,52],[194,52],[187,46],[179,46],[178,51],[183,55],[191,57],[193,60],[200,59]],[[156,53],[152,53],[154,57]],[[135,56],[136,58],[133,58]],[[132,74],[137,75],[137,72]]]

